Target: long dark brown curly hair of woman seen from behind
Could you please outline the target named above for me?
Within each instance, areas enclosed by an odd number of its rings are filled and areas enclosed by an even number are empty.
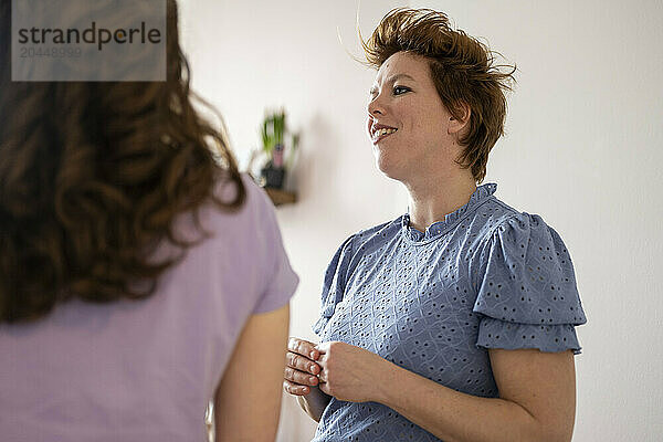
[[[0,323],[70,298],[148,297],[208,235],[178,239],[176,217],[245,199],[224,136],[192,107],[177,4],[167,3],[166,82],[22,83],[11,82],[10,3],[0,2]],[[164,241],[181,253],[154,262]]]

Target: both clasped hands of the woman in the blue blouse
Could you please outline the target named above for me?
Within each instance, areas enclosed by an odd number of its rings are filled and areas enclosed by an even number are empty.
[[[283,388],[306,396],[318,387],[338,400],[376,401],[386,378],[387,360],[361,347],[330,341],[315,345],[290,338]]]

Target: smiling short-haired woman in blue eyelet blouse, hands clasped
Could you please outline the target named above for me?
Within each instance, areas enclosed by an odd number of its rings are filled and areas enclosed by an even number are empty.
[[[569,441],[586,322],[571,259],[539,215],[477,186],[515,69],[431,10],[391,11],[365,50],[368,134],[409,213],[339,248],[320,344],[290,339],[285,390],[316,442]]]

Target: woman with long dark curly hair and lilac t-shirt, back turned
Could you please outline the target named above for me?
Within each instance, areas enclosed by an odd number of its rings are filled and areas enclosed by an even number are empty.
[[[11,81],[0,2],[0,434],[273,440],[296,285],[274,211],[167,81]],[[234,352],[233,352],[234,349]]]

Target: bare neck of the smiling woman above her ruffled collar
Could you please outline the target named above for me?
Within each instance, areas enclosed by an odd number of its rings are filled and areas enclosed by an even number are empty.
[[[421,232],[463,207],[476,190],[469,170],[406,183],[410,193],[410,225]]]

